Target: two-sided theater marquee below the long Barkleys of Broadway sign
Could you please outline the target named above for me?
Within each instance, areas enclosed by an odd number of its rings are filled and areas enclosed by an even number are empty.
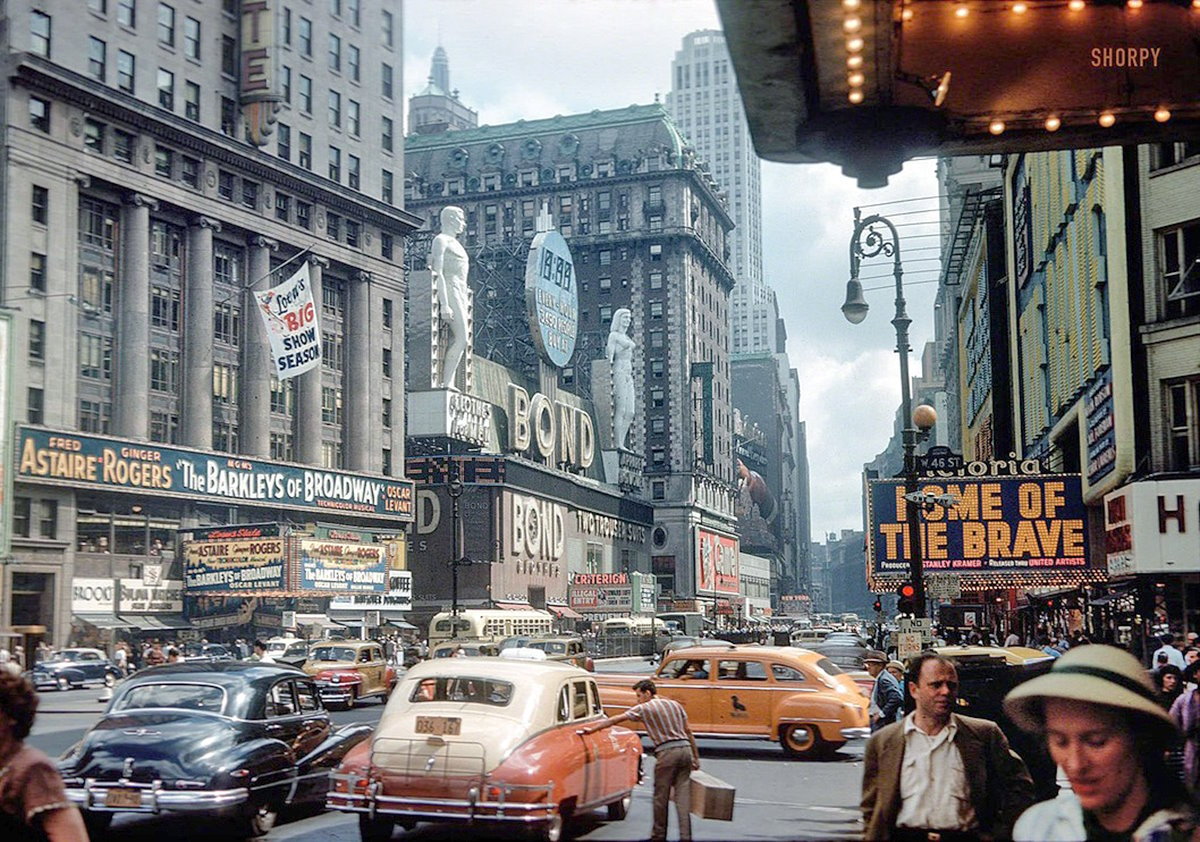
[[[301,535],[186,541],[184,588],[203,596],[383,594],[388,548]]]

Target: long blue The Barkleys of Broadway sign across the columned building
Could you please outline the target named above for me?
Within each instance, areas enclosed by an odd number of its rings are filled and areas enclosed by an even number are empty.
[[[167,447],[40,427],[17,428],[20,482],[413,521],[409,480]]]

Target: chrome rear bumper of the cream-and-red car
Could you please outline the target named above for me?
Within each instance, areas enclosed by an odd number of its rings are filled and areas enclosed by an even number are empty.
[[[353,787],[356,775],[330,775],[330,786],[342,783]],[[494,799],[479,799],[479,788],[472,787],[466,799],[421,798],[378,794],[378,783],[372,783],[367,792],[330,790],[325,798],[326,810],[340,810],[349,813],[376,816],[402,816],[407,818],[426,818],[437,822],[520,822],[535,824],[551,820],[558,812],[558,806],[550,800],[553,784],[499,784],[485,783],[487,789],[499,790]],[[511,801],[515,793],[522,796],[541,795],[541,801]]]

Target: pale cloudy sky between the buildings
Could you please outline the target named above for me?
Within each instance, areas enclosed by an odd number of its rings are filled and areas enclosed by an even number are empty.
[[[406,0],[406,100],[440,43],[450,83],[481,125],[666,101],[683,37],[720,29],[712,0]],[[932,338],[937,291],[935,164],[908,162],[887,187],[859,190],[830,164],[763,162],[763,264],[799,373],[814,541],[862,529],[862,469],[887,447],[900,403],[890,258],[864,263],[871,312],[841,315],[854,208],[900,231],[913,320],[910,366]]]

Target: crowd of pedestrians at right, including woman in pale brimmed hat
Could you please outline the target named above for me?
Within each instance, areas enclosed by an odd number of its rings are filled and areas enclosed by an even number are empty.
[[[952,660],[925,651],[898,682],[887,656],[868,652],[866,840],[1200,842],[1200,658],[1192,640],[1164,639],[1163,657],[1153,656],[1159,666],[1147,670],[1128,651],[1081,634],[1051,639],[1039,630],[1034,642],[1055,649],[1052,666],[1003,699],[1007,717],[1058,770],[1057,796],[1037,804],[1026,760],[1001,728],[961,712]],[[898,696],[911,712],[898,709]]]

